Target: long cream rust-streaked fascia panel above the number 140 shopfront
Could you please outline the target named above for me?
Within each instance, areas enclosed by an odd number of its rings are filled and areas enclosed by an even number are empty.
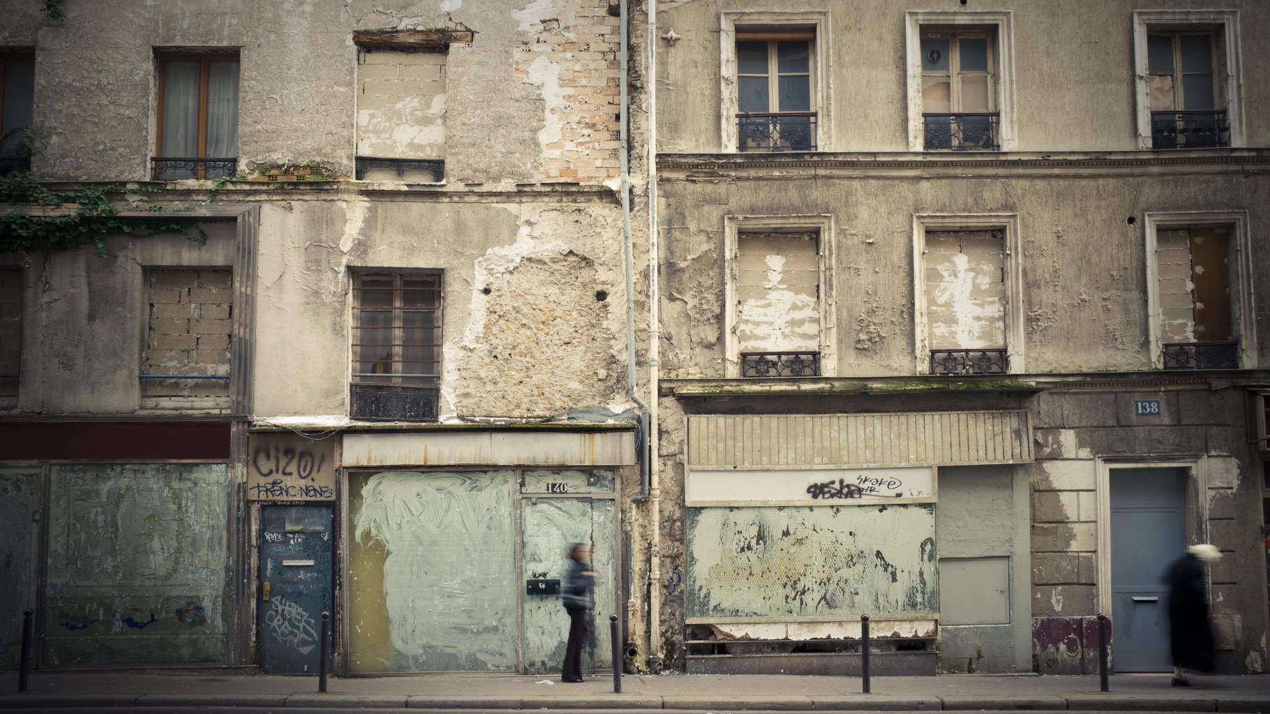
[[[480,432],[351,433],[343,466],[629,466],[635,433]]]

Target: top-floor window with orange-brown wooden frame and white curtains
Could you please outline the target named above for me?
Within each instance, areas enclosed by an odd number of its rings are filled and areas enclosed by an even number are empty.
[[[237,168],[237,53],[159,56],[156,179],[222,178]]]

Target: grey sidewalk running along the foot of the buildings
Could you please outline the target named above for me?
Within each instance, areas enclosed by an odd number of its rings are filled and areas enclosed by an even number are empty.
[[[545,684],[552,682],[552,684]],[[1168,675],[1116,675],[1111,691],[1097,677],[945,675],[859,677],[627,675],[564,685],[552,677],[442,676],[331,678],[202,673],[33,673],[0,676],[0,708],[18,706],[330,706],[343,709],[673,709],[705,711],[1073,710],[1261,711],[1270,714],[1270,676],[1194,677],[1171,687]]]

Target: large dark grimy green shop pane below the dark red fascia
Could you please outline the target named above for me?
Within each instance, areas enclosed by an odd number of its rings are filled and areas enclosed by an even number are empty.
[[[225,464],[66,464],[50,479],[42,663],[224,661]]]

